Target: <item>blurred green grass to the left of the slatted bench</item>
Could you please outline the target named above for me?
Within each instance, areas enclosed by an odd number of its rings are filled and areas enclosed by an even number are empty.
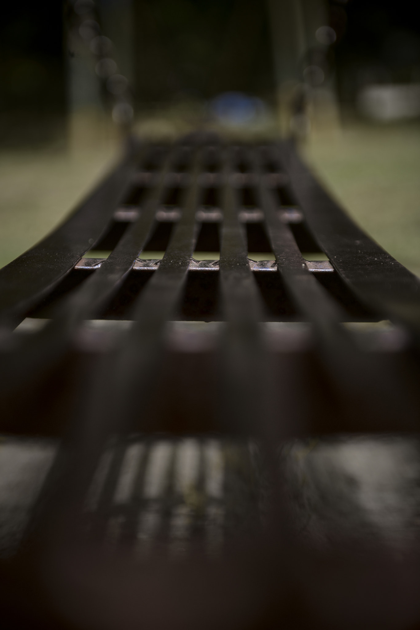
[[[0,150],[0,267],[76,207],[115,159],[115,149]]]

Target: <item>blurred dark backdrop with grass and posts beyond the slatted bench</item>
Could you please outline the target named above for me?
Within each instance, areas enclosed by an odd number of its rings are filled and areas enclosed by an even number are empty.
[[[129,127],[293,135],[420,275],[420,17],[409,0],[20,0],[0,26],[0,266],[59,223]]]

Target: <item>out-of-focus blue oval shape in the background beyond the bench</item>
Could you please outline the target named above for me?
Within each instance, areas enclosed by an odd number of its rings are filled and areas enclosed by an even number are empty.
[[[210,111],[222,125],[242,127],[256,120],[264,113],[261,99],[242,92],[224,92],[210,102]]]

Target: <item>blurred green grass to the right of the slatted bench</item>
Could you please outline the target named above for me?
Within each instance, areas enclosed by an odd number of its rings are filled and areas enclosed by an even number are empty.
[[[352,123],[303,152],[351,217],[420,276],[420,123]]]

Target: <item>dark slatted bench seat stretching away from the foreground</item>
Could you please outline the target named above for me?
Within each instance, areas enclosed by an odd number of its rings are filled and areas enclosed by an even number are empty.
[[[0,286],[6,627],[418,627],[419,280],[292,142],[132,140]]]

